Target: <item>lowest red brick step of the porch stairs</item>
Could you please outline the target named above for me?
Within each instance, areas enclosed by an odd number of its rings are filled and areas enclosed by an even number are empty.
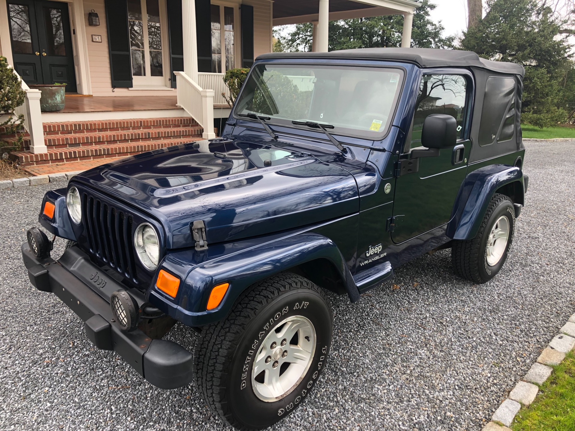
[[[47,153],[40,154],[34,154],[27,151],[17,151],[11,153],[10,156],[13,158],[17,157],[20,164],[26,167],[48,163],[63,163],[67,161],[106,159],[109,157],[127,157],[143,153],[145,151],[173,147],[174,145],[186,144],[193,141],[199,141],[201,139],[202,137],[194,136],[180,140],[115,143],[91,145],[89,147],[80,148],[55,148],[49,149]]]

